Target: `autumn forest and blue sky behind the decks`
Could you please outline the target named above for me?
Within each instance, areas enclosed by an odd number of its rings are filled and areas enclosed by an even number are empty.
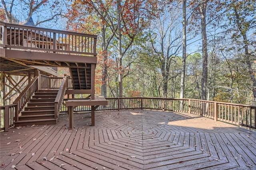
[[[256,105],[255,9],[255,0],[1,0],[0,20],[98,35],[97,95]]]

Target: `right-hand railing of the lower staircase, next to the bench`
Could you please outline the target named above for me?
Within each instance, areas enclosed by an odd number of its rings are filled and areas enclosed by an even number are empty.
[[[66,79],[67,79],[67,77],[64,76],[62,79],[62,83],[60,85],[60,89],[59,89],[56,99],[54,101],[54,119],[57,119],[58,115],[60,114],[64,96],[66,94]]]

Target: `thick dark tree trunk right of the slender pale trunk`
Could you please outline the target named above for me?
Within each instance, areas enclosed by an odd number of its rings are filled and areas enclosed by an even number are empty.
[[[202,79],[201,79],[201,88],[202,88],[202,100],[206,100],[206,90],[207,90],[207,78],[208,78],[208,53],[207,53],[207,37],[206,37],[206,6],[207,1],[202,2],[200,5],[201,12],[201,34],[202,34]]]

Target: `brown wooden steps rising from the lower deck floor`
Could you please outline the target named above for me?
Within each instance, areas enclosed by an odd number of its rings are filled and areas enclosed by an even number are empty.
[[[19,115],[19,121],[15,122],[15,126],[56,124],[54,101],[57,93],[58,90],[39,90],[36,92]]]

